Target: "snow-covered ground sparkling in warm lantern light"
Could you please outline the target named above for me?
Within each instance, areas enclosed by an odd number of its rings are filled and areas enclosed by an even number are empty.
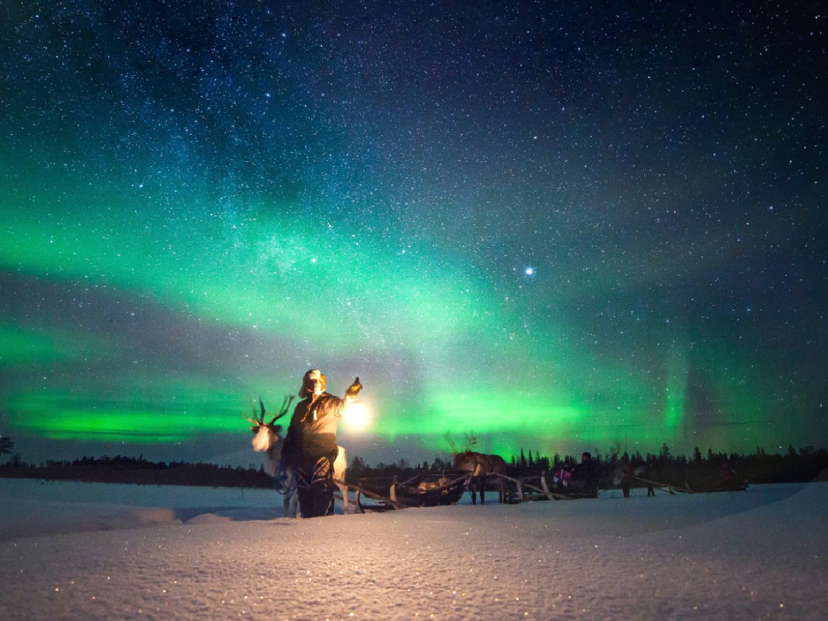
[[[0,619],[828,619],[828,484],[309,520],[0,479]]]

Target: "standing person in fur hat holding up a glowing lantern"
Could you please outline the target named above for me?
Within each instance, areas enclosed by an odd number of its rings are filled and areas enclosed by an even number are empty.
[[[357,400],[361,388],[356,378],[340,399],[325,392],[325,376],[318,368],[302,377],[302,400],[293,411],[282,449],[282,460],[296,469],[302,517],[333,514],[336,424],[345,407]]]

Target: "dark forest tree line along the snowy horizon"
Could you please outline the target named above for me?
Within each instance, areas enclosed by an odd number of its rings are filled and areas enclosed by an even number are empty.
[[[184,461],[152,462],[143,456],[86,457],[77,460],[49,460],[41,465],[26,464],[19,453],[12,453],[14,442],[0,436],[0,458],[11,455],[0,465],[0,477],[26,479],[77,480],[94,483],[205,485],[210,487],[270,488],[273,479],[263,465],[241,466],[187,463]],[[599,462],[602,485],[612,485],[615,465],[626,461],[630,465],[646,465],[647,477],[678,487],[715,479],[726,468],[730,473],[744,477],[750,484],[802,483],[828,480],[828,450],[789,445],[784,453],[768,453],[759,447],[753,453],[724,453],[708,449],[703,455],[699,448],[690,457],[672,455],[667,445],[657,453],[622,452],[614,447],[602,455],[590,451]],[[508,460],[508,475],[513,478],[552,473],[567,465],[575,465],[580,455],[541,455],[537,450],[520,450]],[[346,480],[359,484],[363,479],[393,479],[405,481],[423,471],[450,472],[454,470],[452,457],[436,457],[433,461],[411,463],[399,460],[393,464],[368,465],[354,456],[349,463]]]

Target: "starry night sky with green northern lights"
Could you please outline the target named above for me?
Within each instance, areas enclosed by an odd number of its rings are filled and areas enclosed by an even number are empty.
[[[3,0],[0,434],[368,464],[828,445],[818,2]]]

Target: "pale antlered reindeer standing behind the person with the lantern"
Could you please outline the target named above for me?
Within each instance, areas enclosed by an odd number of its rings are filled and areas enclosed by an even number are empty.
[[[282,436],[282,425],[277,425],[278,420],[286,416],[288,409],[291,407],[291,402],[294,395],[289,397],[285,395],[282,402],[282,407],[279,412],[272,417],[270,422],[265,422],[264,402],[259,399],[260,412],[256,412],[256,406],[253,404],[253,399],[250,400],[250,405],[253,409],[253,418],[244,416],[244,420],[251,423],[250,431],[253,432],[253,450],[265,454],[264,471],[276,478],[276,486],[279,493],[284,496],[284,503],[282,507],[282,515],[284,517],[296,517],[296,507],[299,502],[298,494],[296,493],[296,472],[292,465],[282,465],[282,447],[285,445],[285,438]],[[282,468],[284,466],[284,468]],[[348,467],[345,450],[341,446],[336,447],[336,459],[334,460],[334,481],[345,480],[345,470]],[[339,492],[342,493],[343,513],[348,515],[348,486],[336,483]]]

